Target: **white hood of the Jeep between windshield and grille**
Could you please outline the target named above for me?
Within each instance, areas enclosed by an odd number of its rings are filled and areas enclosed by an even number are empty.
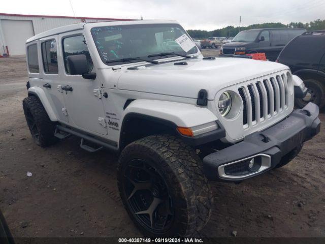
[[[183,59],[187,65],[174,65],[178,62],[138,70],[123,67],[116,71],[120,72],[117,88],[194,99],[206,89],[208,99],[213,100],[221,88],[288,69],[279,63],[233,57]]]

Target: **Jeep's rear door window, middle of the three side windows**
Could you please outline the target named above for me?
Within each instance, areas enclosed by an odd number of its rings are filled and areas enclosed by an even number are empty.
[[[44,72],[49,74],[57,74],[58,68],[55,40],[43,42],[41,47]]]

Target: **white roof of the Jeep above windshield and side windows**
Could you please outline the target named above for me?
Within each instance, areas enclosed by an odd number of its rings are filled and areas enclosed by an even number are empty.
[[[34,37],[31,37],[27,39],[26,43],[61,34],[61,33],[67,33],[72,31],[77,31],[78,29],[83,29],[84,26],[88,26],[87,29],[96,27],[96,26],[107,26],[107,25],[127,25],[127,24],[154,24],[154,23],[177,23],[173,20],[121,20],[121,21],[102,21],[102,22],[89,22],[89,23],[76,23],[76,24],[70,24],[70,25],[64,25],[61,27],[57,27],[54,29],[50,29],[49,31],[42,32],[40,34],[35,35]]]

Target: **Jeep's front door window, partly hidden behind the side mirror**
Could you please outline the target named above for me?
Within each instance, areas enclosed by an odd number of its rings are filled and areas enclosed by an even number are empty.
[[[64,68],[66,68],[66,73],[70,74],[69,67],[67,64],[67,57],[70,55],[78,55],[78,54],[85,54],[88,63],[88,72],[90,72],[93,68],[92,60],[88,51],[88,47],[86,41],[83,36],[73,36],[73,37],[66,37],[62,41],[63,43],[63,61],[64,61]]]

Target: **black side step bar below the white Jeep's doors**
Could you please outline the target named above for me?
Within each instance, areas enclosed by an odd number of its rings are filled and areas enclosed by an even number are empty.
[[[60,133],[60,132],[65,132],[65,133],[67,133],[68,135],[66,135],[66,134],[62,134],[62,133]],[[109,143],[107,143],[107,142],[104,142],[104,141],[102,141],[102,140],[96,139],[96,138],[94,138],[94,137],[92,137],[92,136],[85,135],[85,134],[83,134],[83,133],[80,133],[80,132],[74,131],[74,130],[72,130],[72,129],[69,129],[69,128],[66,128],[66,127],[63,127],[63,126],[60,126],[60,125],[57,125],[57,126],[56,126],[55,134],[54,134],[54,135],[55,135],[56,137],[60,138],[60,139],[67,138],[67,137],[69,137],[69,136],[71,136],[71,135],[75,135],[75,136],[77,136],[77,137],[80,137],[80,138],[81,138],[80,147],[81,147],[82,149],[85,149],[86,151],[91,152],[91,153],[93,153],[93,152],[95,152],[95,151],[99,151],[99,150],[101,150],[103,147],[108,148],[108,149],[113,150],[113,151],[118,151],[117,146],[111,145],[111,144],[109,144]],[[65,136],[65,135],[66,135],[66,136]],[[62,137],[62,138],[61,138],[61,137]],[[93,148],[93,147],[91,147],[91,146],[85,145],[85,144],[84,144],[84,141],[85,141],[85,140],[86,140],[86,141],[90,141],[90,142],[92,142],[92,143],[94,143],[94,144],[98,144],[98,145],[100,145],[100,147],[98,147],[98,148]]]

